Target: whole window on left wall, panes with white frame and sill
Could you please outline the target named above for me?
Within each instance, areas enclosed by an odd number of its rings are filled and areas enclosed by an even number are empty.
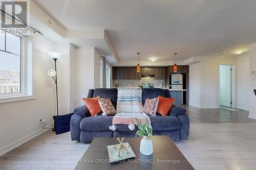
[[[0,29],[0,103],[35,99],[33,42],[34,36]]]

